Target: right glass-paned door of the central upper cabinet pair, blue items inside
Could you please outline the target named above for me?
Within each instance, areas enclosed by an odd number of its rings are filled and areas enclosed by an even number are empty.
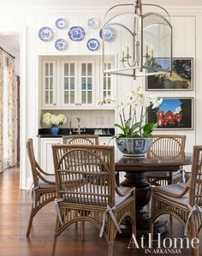
[[[95,102],[95,63],[80,62],[80,104],[92,105]]]

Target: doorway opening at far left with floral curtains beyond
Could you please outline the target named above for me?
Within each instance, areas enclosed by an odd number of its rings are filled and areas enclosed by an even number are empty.
[[[20,164],[20,36],[0,34],[3,51],[3,169]]]

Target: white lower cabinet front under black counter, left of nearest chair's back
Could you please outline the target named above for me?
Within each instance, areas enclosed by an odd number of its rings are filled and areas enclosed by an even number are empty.
[[[62,138],[40,138],[39,139],[39,159],[40,166],[49,173],[54,173],[52,157],[52,144],[62,143]]]

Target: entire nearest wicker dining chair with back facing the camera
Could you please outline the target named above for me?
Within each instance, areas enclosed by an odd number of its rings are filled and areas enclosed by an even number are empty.
[[[88,221],[100,230],[113,254],[123,218],[134,225],[134,188],[116,187],[113,146],[53,145],[56,174],[56,239],[72,223]],[[83,239],[82,239],[83,240]]]

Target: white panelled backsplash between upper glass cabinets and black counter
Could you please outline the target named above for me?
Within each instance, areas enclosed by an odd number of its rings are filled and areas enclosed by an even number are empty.
[[[114,128],[115,123],[115,110],[41,110],[39,122],[41,128],[47,128],[41,122],[42,116],[46,112],[65,115],[68,121],[62,125],[62,128],[69,128],[70,122],[72,128],[77,128],[76,117],[80,117],[81,128]]]

